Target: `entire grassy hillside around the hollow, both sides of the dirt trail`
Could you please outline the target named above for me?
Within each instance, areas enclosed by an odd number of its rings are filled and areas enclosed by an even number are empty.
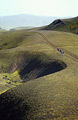
[[[77,35],[39,32],[59,48],[74,49],[73,54],[78,55]],[[78,119],[78,62],[62,55],[35,31],[7,32],[0,40],[0,92],[9,89],[0,95],[0,118]]]

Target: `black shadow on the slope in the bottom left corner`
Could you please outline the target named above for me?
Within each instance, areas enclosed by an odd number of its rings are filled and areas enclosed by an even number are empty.
[[[0,118],[1,120],[22,120],[29,110],[27,105],[24,105],[21,98],[16,98],[14,94],[0,95]]]

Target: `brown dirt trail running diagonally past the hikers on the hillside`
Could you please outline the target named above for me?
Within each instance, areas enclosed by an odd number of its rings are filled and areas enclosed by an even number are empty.
[[[59,47],[59,46],[55,45],[54,43],[52,43],[43,33],[41,33],[41,32],[35,32],[35,33],[42,36],[44,38],[45,42],[47,42],[51,47],[54,47],[55,49],[57,49],[57,47]],[[70,56],[75,62],[78,63],[78,56],[65,50],[64,48],[62,48],[62,50],[64,51],[65,55]]]

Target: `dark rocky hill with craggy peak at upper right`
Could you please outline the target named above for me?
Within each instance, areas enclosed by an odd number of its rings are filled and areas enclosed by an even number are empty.
[[[70,19],[57,19],[46,26],[44,30],[57,30],[78,34],[78,16]]]

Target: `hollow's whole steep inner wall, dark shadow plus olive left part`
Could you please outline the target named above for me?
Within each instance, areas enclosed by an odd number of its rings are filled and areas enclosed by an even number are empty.
[[[16,52],[0,54],[0,72],[19,72],[23,82],[63,70],[67,65],[43,53]]]

